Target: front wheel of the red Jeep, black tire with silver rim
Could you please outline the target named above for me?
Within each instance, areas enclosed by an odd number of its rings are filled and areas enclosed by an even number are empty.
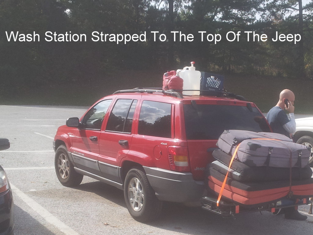
[[[55,152],[54,168],[60,183],[64,186],[77,186],[83,180],[84,176],[74,170],[74,166],[69,160],[67,148],[64,145],[60,145]]]

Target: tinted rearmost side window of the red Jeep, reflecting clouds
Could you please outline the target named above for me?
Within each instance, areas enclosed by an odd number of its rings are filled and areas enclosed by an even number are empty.
[[[171,104],[145,100],[142,102],[138,134],[172,137]]]

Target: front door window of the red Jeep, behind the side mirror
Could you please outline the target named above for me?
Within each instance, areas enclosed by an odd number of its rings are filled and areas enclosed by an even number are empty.
[[[108,111],[112,100],[103,100],[92,107],[83,119],[83,127],[86,129],[100,130],[103,118]]]

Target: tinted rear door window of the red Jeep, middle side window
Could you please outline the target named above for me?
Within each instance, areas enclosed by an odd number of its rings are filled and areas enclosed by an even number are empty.
[[[131,133],[136,104],[137,100],[117,100],[105,130]]]

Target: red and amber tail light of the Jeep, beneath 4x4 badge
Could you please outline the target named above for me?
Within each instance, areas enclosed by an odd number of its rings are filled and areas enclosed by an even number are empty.
[[[173,171],[190,172],[188,148],[181,146],[169,146],[168,159]]]

